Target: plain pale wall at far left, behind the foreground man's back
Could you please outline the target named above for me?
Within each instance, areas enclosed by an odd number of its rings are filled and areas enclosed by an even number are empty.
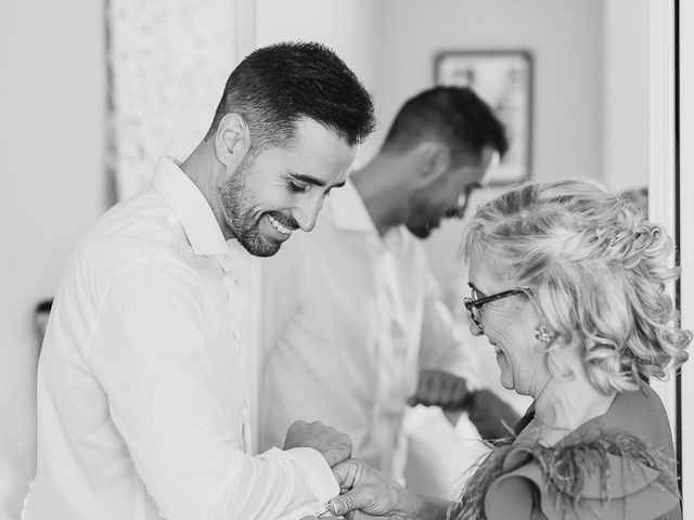
[[[106,205],[102,3],[0,3],[0,519],[34,472],[34,306]]]

